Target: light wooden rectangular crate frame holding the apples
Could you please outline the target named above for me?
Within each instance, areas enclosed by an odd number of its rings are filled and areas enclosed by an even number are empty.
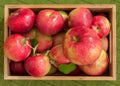
[[[42,9],[50,8],[55,10],[71,11],[74,8],[86,7],[89,8],[92,13],[107,13],[111,22],[111,32],[109,38],[109,70],[108,74],[104,76],[44,76],[40,78],[32,76],[13,76],[9,70],[9,59],[4,56],[4,79],[5,80],[116,80],[116,5],[115,4],[39,4],[39,5],[5,5],[4,10],[4,41],[11,34],[7,26],[7,19],[11,11],[18,8],[30,8],[35,12]]]

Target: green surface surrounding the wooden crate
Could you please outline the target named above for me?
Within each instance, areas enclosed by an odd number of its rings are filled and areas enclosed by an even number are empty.
[[[60,81],[60,80],[4,80],[4,5],[5,4],[116,4],[117,6],[117,80],[116,81]],[[119,0],[0,0],[0,86],[120,86],[120,1]]]

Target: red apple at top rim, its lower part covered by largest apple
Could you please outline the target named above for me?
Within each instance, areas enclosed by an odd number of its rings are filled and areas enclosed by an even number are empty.
[[[93,16],[87,8],[76,8],[69,13],[68,24],[70,27],[85,26],[91,27]]]

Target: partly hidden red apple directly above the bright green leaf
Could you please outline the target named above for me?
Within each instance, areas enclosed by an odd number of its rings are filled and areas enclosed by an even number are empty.
[[[54,46],[50,50],[49,56],[50,56],[50,59],[55,61],[53,65],[55,65],[56,67],[58,67],[60,64],[70,63],[70,60],[66,58],[63,53],[62,44]]]

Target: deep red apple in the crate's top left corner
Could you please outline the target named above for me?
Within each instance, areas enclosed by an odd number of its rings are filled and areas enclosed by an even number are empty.
[[[32,29],[35,13],[28,8],[20,8],[8,17],[9,29],[14,33],[25,33]]]

